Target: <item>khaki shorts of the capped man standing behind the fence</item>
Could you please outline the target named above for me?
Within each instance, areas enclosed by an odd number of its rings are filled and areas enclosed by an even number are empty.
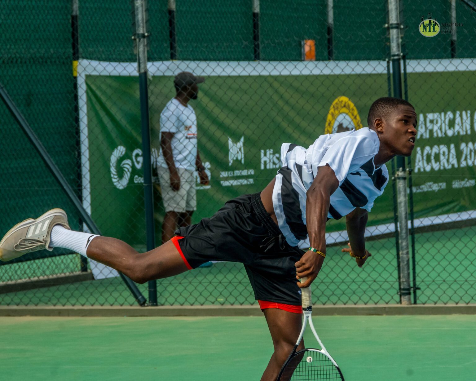
[[[170,172],[168,168],[159,167],[160,189],[165,211],[183,213],[197,210],[197,191],[195,190],[195,170],[177,168],[180,177],[180,189],[174,191],[170,186]]]

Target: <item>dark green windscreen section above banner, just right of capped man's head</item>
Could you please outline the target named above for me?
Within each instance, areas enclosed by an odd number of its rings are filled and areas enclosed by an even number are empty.
[[[251,0],[180,0],[176,12],[179,60],[252,60]]]

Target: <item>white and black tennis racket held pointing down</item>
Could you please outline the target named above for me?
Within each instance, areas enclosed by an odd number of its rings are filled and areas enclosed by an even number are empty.
[[[307,278],[302,278],[304,283]],[[291,355],[284,363],[278,375],[278,381],[324,381],[337,380],[344,381],[344,376],[337,365],[337,362],[327,352],[326,347],[317,336],[316,329],[312,323],[312,301],[311,301],[311,287],[301,289],[303,322],[301,333],[296,341]],[[307,322],[311,327],[312,333],[316,337],[317,342],[322,349],[306,348],[301,351],[296,351],[297,346],[301,342]]]

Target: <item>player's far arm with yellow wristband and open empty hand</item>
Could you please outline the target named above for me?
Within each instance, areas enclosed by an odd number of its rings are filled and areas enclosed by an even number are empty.
[[[365,227],[367,225],[368,213],[365,209],[356,208],[346,216],[347,235],[349,236],[348,248],[342,252],[348,252],[356,259],[357,266],[362,267],[370,257],[365,249]]]

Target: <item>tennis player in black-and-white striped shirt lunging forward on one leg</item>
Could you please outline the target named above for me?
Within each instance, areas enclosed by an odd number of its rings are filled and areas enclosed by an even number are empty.
[[[417,114],[407,101],[380,98],[367,121],[369,128],[322,135],[307,149],[283,144],[282,168],[262,192],[228,201],[213,217],[179,228],[152,251],[139,254],[123,241],[71,231],[65,212],[53,209],[14,226],[0,241],[0,259],[62,247],[139,283],[207,261],[241,262],[274,345],[261,380],[276,380],[299,335],[299,288],[316,279],[326,256],[326,221],[347,216],[349,248],[343,251],[362,266],[370,256],[367,212],[388,182],[385,163],[411,155],[415,146]],[[301,277],[308,279],[300,283]]]

